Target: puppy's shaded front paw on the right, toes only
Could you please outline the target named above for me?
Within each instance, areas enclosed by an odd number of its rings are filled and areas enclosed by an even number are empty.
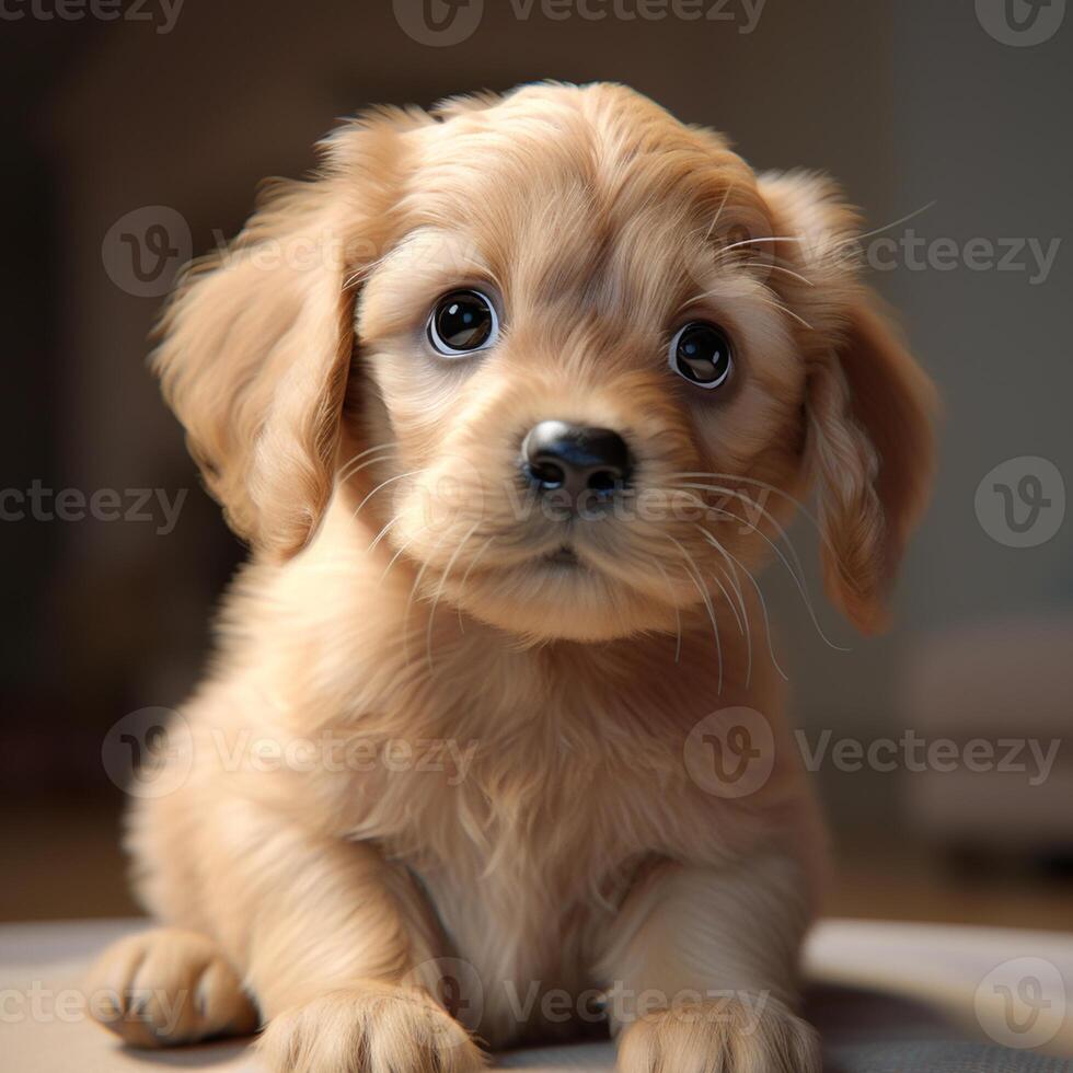
[[[814,1029],[764,995],[647,1014],[625,1027],[620,1073],[820,1073]]]

